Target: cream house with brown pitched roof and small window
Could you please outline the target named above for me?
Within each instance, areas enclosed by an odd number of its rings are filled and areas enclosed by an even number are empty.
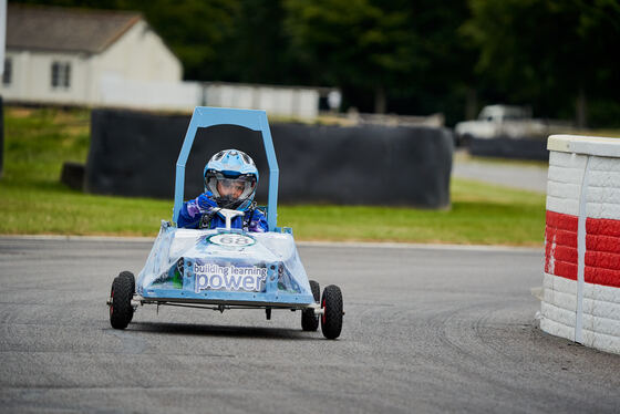
[[[105,103],[105,84],[179,84],[183,68],[135,12],[9,4],[7,102]]]

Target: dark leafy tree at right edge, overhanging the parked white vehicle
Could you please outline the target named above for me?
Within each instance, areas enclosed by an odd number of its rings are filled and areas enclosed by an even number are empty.
[[[614,0],[472,0],[464,27],[480,50],[478,73],[515,102],[559,115],[575,107],[586,124],[587,96],[620,85]]]

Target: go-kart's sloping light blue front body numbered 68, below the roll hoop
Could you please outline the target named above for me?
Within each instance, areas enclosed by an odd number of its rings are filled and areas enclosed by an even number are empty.
[[[162,225],[136,293],[154,302],[304,308],[314,302],[289,232]]]

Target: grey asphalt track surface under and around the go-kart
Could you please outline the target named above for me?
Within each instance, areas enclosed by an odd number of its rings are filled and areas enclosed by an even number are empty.
[[[301,245],[344,294],[337,341],[300,313],[144,307],[110,327],[113,277],[149,241],[0,238],[0,411],[620,411],[620,355],[536,328],[538,250]]]

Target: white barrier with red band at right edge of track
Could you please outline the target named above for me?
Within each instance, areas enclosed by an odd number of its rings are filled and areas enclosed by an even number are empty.
[[[552,135],[540,329],[620,353],[620,139]]]

